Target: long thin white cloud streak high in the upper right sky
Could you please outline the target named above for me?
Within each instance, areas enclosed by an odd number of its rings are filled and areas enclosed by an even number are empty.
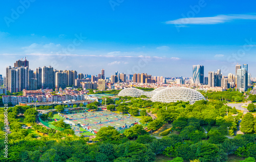
[[[228,15],[217,15],[213,17],[189,17],[179,18],[176,20],[166,21],[165,24],[174,24],[179,27],[187,27],[185,25],[210,25],[210,24],[222,24],[225,22],[231,22],[238,19],[256,20],[254,14],[228,14]]]

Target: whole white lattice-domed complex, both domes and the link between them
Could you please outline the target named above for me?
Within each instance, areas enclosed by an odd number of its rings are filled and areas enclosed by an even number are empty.
[[[153,91],[143,91],[137,88],[125,88],[121,90],[118,96],[140,97],[145,95],[153,102],[177,102],[189,101],[190,104],[199,100],[205,100],[204,96],[197,90],[186,87],[160,87]]]

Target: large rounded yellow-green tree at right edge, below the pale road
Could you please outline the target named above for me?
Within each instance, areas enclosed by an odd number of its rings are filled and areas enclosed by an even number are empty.
[[[253,132],[253,126],[254,126],[254,119],[253,115],[251,113],[246,113],[242,119],[241,122],[241,128],[240,130],[244,133],[252,133]]]

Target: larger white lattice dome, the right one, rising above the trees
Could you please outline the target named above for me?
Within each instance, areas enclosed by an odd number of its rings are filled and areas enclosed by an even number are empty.
[[[186,87],[170,87],[158,91],[153,97],[153,102],[177,102],[189,101],[190,104],[199,100],[205,100],[204,96],[197,90]]]

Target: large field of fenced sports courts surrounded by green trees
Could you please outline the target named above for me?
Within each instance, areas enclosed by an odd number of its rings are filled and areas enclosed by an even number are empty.
[[[130,117],[127,114],[118,114],[111,111],[69,111],[66,114],[60,114],[66,122],[72,126],[80,126],[87,131],[97,133],[101,127],[112,126],[117,130],[130,128],[139,124],[140,119]]]

